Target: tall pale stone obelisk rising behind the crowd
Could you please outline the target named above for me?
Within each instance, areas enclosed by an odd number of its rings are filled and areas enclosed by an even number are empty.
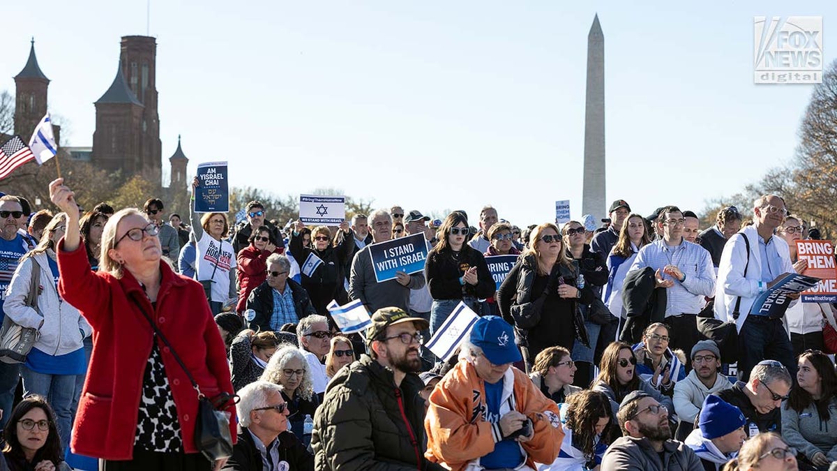
[[[582,211],[596,220],[607,216],[604,200],[604,35],[598,14],[587,35],[587,101],[584,114]]]

